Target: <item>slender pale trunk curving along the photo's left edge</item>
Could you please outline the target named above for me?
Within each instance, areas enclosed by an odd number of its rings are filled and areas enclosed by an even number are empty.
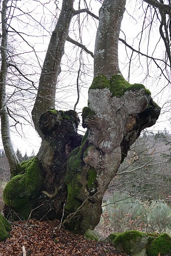
[[[8,72],[8,31],[7,31],[7,4],[8,0],[3,1],[2,7],[2,42],[1,42],[1,73],[0,73],[0,116],[1,116],[1,134],[2,141],[7,156],[11,175],[19,164],[19,160],[13,148],[13,144],[10,137],[10,125],[9,117],[7,112],[7,98],[6,98],[6,82],[7,82],[7,72]]]

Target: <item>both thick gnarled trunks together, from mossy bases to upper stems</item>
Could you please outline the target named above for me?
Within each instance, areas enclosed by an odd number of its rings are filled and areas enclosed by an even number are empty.
[[[54,104],[60,60],[73,15],[73,0],[63,0],[32,111],[41,147],[37,157],[20,166],[19,175],[5,188],[6,204],[25,218],[31,208],[40,206],[34,217],[60,219],[65,210],[63,224],[69,229],[78,233],[94,229],[100,220],[105,190],[130,145],[160,114],[150,92],[142,84],[125,81],[119,70],[118,38],[124,7],[125,0],[104,0],[99,11],[95,77],[89,89],[89,105],[82,112],[83,127],[87,127],[82,138],[77,134],[77,113],[56,111]],[[11,191],[18,181],[26,189],[21,188],[13,198]],[[26,205],[28,211],[24,212]]]

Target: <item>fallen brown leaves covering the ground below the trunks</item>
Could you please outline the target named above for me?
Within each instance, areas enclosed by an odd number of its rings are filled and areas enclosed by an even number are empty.
[[[23,255],[113,255],[121,256],[110,244],[88,241],[83,236],[59,228],[56,221],[39,222],[30,220],[12,224],[11,237],[0,242],[0,256]]]

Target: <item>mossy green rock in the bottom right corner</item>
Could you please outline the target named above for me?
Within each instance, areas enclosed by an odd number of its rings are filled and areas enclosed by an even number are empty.
[[[166,234],[160,234],[153,240],[147,248],[147,256],[167,255],[171,253],[171,237]]]

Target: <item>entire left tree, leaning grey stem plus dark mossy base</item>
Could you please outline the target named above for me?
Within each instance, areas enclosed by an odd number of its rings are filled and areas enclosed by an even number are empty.
[[[18,166],[18,175],[4,190],[6,205],[24,218],[28,218],[31,209],[40,205],[33,212],[33,217],[62,217],[67,197],[67,186],[64,182],[67,158],[82,138],[77,134],[77,113],[72,110],[55,110],[56,82],[73,12],[73,0],[63,0],[40,75],[32,110],[34,126],[42,140],[39,152],[35,159]],[[18,190],[12,195],[16,184]]]

